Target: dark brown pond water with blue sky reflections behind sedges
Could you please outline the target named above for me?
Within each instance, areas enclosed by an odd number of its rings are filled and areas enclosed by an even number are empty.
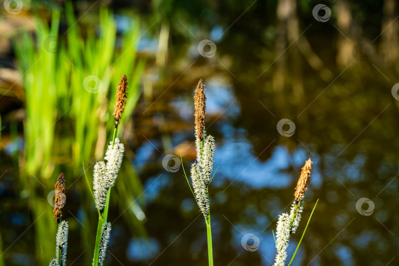
[[[144,191],[139,200],[126,200],[136,203],[131,212],[142,218],[145,233],[130,231],[129,220],[119,217],[124,209],[114,204],[106,265],[207,264],[205,223],[182,167],[162,165],[166,155],[182,154],[188,173],[194,162],[193,94],[199,78],[206,84],[205,127],[216,139],[219,167],[209,188],[215,265],[274,263],[272,230],[278,215],[289,211],[300,168],[308,158],[313,161],[311,184],[299,230],[290,239],[288,261],[319,199],[293,265],[397,265],[399,101],[391,92],[397,83],[395,67],[381,60],[377,44],[370,41],[364,41],[370,52],[359,57],[359,40],[354,38],[348,41],[346,64],[336,63],[343,38],[333,26],[336,17],[317,22],[310,15],[313,5],[305,5],[299,8],[299,34],[311,26],[299,38],[307,39],[328,73],[315,70],[297,42],[276,48],[275,17],[262,15],[273,13],[267,10],[274,5],[257,3],[233,23],[250,4],[230,10],[230,16],[225,14],[229,10],[203,9],[199,17],[188,9],[190,20],[174,15],[156,24],[159,33],[162,23],[170,23],[166,67],[148,63],[156,76],[154,89],[144,92],[123,135]],[[232,19],[222,19],[226,16]],[[216,26],[206,26],[212,23]],[[364,23],[369,29],[364,39],[379,34],[379,23]],[[141,47],[157,37],[143,38]],[[199,55],[202,39],[214,42],[213,56]],[[278,129],[282,119],[293,124]],[[2,172],[7,171],[0,178],[6,265],[36,265],[28,200],[10,175],[18,175],[13,170],[18,162],[4,151],[1,158]],[[170,171],[173,167],[178,170]],[[84,185],[70,196],[86,194]],[[82,204],[71,201],[69,210],[83,219]],[[92,251],[84,250],[91,246],[84,243],[90,240],[80,232],[93,236],[95,228],[83,229],[78,223],[72,228],[68,262],[89,265]],[[260,240],[256,251],[242,245],[248,233],[253,234],[248,245]]]

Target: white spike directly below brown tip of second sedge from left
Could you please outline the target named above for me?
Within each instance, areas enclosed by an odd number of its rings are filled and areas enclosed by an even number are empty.
[[[108,145],[108,149],[105,153],[104,160],[107,161],[106,168],[106,185],[108,188],[113,187],[116,177],[118,176],[119,168],[122,165],[123,154],[125,147],[119,141],[119,138],[115,138],[114,145],[112,141]]]

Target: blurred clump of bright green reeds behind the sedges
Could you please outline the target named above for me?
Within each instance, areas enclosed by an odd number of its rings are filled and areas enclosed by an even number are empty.
[[[40,217],[34,224],[38,257],[40,245],[45,251],[52,246],[51,241],[41,236],[49,231],[55,232],[56,226],[52,222],[51,212],[46,212],[49,205],[39,200],[46,197],[46,191],[31,176],[37,177],[45,186],[50,186],[50,177],[59,165],[72,163],[74,172],[71,176],[77,177],[82,161],[90,162],[93,158],[100,158],[107,136],[112,133],[112,123],[107,119],[112,112],[108,96],[115,91],[110,89],[110,84],[118,82],[122,69],[134,77],[125,108],[127,113],[132,113],[140,95],[139,82],[145,66],[145,60],[137,58],[137,20],[118,37],[115,19],[106,8],[100,9],[97,33],[91,28],[87,32],[80,29],[71,2],[66,2],[65,12],[66,32],[59,32],[61,12],[54,10],[50,26],[41,18],[36,18],[34,35],[22,32],[13,39],[17,67],[23,74],[26,95],[26,165],[21,169],[21,183],[24,190],[29,192],[33,220]],[[117,38],[120,38],[120,47],[115,47]],[[88,76],[97,78],[89,78],[85,86],[84,81]],[[92,84],[95,81],[101,84],[98,91],[94,90],[97,85]],[[125,121],[121,119],[120,124],[123,123]],[[122,131],[117,136],[121,134]],[[129,172],[131,178],[121,180],[121,185],[116,186],[120,192],[120,197],[116,199],[121,209],[131,204],[129,199],[132,195],[140,195],[142,191],[132,166],[123,166],[123,171]],[[70,184],[74,181],[71,180]],[[79,186],[79,183],[76,184]],[[84,202],[83,207],[87,212],[90,206]],[[139,208],[137,202],[133,207]],[[133,207],[129,208],[130,211],[124,217],[134,221],[129,223],[132,231],[134,225],[139,232],[144,233],[145,230],[132,211]],[[87,218],[84,221],[86,224],[90,223],[90,216]]]

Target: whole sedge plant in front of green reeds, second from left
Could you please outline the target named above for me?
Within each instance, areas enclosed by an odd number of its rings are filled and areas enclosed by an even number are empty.
[[[93,191],[91,191],[96,208],[99,214],[97,226],[96,243],[94,249],[93,266],[102,266],[111,233],[111,223],[107,222],[109,199],[111,188],[115,184],[119,169],[122,165],[125,147],[116,137],[119,121],[122,117],[127,100],[128,81],[126,75],[122,75],[121,81],[117,84],[116,103],[114,109],[114,133],[112,141],[108,145],[104,161],[97,162],[94,166]],[[86,181],[89,185],[85,173]],[[90,188],[90,185],[89,185]]]

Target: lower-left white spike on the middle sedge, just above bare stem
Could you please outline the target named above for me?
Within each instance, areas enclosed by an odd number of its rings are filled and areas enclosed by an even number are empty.
[[[197,164],[191,165],[191,180],[193,182],[194,195],[197,198],[199,208],[203,216],[206,218],[209,213],[209,200],[206,193],[205,183]]]

